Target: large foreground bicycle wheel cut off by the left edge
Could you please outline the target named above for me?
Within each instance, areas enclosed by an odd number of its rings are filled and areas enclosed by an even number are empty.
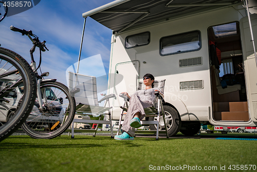
[[[36,79],[29,64],[19,54],[0,47],[0,141],[26,120],[35,97]]]

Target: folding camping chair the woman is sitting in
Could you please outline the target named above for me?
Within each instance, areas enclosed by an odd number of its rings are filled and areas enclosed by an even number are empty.
[[[161,90],[161,92],[164,92],[165,81],[166,80],[154,81],[154,85],[155,86],[158,85],[157,87]],[[138,84],[138,90],[140,90],[140,89],[145,89],[145,85],[142,82],[139,82],[139,84]],[[167,138],[169,138],[168,130],[167,130],[167,126],[166,126],[166,119],[164,117],[164,111],[163,111],[163,106],[162,106],[162,103],[164,102],[164,98],[163,98],[163,95],[161,95],[158,91],[155,92],[155,95],[156,95],[155,106],[144,108],[144,112],[145,112],[145,117],[157,117],[157,120],[156,121],[142,120],[141,124],[142,125],[156,125],[156,130],[136,130],[136,133],[156,133],[156,140],[158,140],[159,133],[166,133]],[[124,99],[124,102],[123,102],[123,105],[120,107],[122,109],[122,111],[121,111],[121,115],[120,115],[119,128],[118,128],[117,135],[119,135],[119,133],[120,133],[120,129],[121,129],[121,126],[123,123],[122,117],[123,117],[123,115],[126,114],[126,111],[128,108],[127,101],[129,101],[129,99],[126,96],[124,96],[123,94],[119,94],[119,96]],[[165,131],[159,131],[160,116],[162,116],[162,118],[163,118]]]

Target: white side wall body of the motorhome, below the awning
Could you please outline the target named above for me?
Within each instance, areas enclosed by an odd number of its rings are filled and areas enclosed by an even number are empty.
[[[256,6],[255,1],[249,1],[251,25],[255,40],[257,40]],[[245,88],[242,88],[246,91],[247,100],[245,102],[248,104],[246,116],[249,116],[249,120],[243,121],[233,118],[231,120],[218,119],[215,117],[213,110],[215,102],[213,101],[212,89],[215,86],[212,85],[209,53],[210,33],[208,29],[230,23],[237,23],[240,28],[240,43],[238,45],[241,48],[233,50],[233,48],[227,47],[228,51],[222,51],[222,60],[228,59],[229,56],[232,59],[236,56],[242,56],[246,84]],[[199,49],[168,55],[160,54],[160,40],[163,37],[193,31],[199,33]],[[144,32],[150,33],[148,44],[133,48],[125,47],[127,36]],[[225,39],[229,38],[225,37]],[[233,43],[233,40],[230,40],[230,42]],[[197,64],[180,65],[181,60],[194,61],[197,59],[200,61]],[[143,75],[151,73],[155,80],[166,79],[164,88],[165,105],[177,110],[182,123],[197,121],[215,126],[244,127],[257,125],[257,67],[244,3],[171,17],[165,21],[161,20],[131,27],[122,32],[114,32],[109,62],[107,93],[114,93],[117,97],[117,99],[110,100],[111,106],[113,106],[112,120],[119,120],[120,118],[120,106],[123,104],[123,99],[118,96],[119,93],[126,91],[130,95],[133,94],[137,90],[138,82],[142,81]],[[182,86],[183,84],[193,84],[193,86],[186,89]]]

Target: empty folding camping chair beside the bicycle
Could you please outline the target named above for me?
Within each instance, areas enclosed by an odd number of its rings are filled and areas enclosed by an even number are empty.
[[[111,118],[112,107],[109,107],[109,99],[115,98],[115,94],[106,95],[100,101],[97,98],[97,85],[96,77],[87,76],[83,74],[69,73],[69,90],[72,96],[76,100],[76,114],[79,115],[89,115],[89,116],[99,116],[99,120],[88,120],[88,119],[74,119],[71,124],[71,138],[74,138],[74,131],[76,132],[94,132],[93,136],[96,136],[96,132],[99,124],[109,124],[111,127],[111,138],[113,136],[113,125]],[[104,102],[104,106],[99,106],[99,103]],[[108,107],[106,107],[108,103]],[[109,116],[109,121],[106,119],[106,114]],[[101,116],[104,115],[104,120],[100,120]],[[74,123],[94,123],[97,124],[95,129],[74,129]],[[68,129],[67,131],[70,131]]]

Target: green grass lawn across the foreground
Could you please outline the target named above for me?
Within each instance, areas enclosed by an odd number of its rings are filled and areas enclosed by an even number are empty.
[[[248,165],[248,170],[239,171],[257,171],[249,170],[249,165],[257,165],[256,146],[252,140],[11,136],[0,143],[0,171],[160,171],[154,170],[158,166],[166,167],[163,171],[177,171],[172,167],[179,166],[185,167],[180,171],[198,171],[196,166],[202,171],[233,171],[229,165]],[[226,170],[221,170],[224,165]],[[205,166],[213,168],[203,170]]]

